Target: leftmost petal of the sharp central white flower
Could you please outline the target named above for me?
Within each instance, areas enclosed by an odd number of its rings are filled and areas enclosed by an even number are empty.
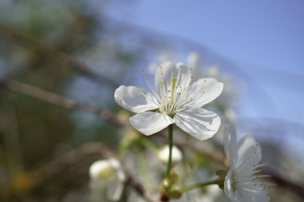
[[[140,93],[140,91],[146,96]],[[151,97],[151,95],[152,94],[149,93],[149,91],[143,88],[136,88],[135,86],[119,86],[114,93],[114,98],[120,107],[139,113],[158,108],[157,105],[150,100],[152,99],[155,101],[155,98]]]

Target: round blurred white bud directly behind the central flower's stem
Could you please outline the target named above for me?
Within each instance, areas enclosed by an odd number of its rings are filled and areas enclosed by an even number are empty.
[[[157,151],[157,157],[163,162],[165,165],[168,164],[169,159],[169,145],[163,146],[160,150]],[[183,153],[182,151],[176,147],[172,146],[172,154],[171,154],[171,163],[172,167],[176,165],[178,162],[180,162],[183,159]]]

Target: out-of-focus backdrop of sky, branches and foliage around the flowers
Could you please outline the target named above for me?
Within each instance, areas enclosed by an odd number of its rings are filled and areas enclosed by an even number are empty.
[[[0,201],[89,201],[88,167],[104,145],[119,150],[132,115],[115,89],[199,56],[200,74],[227,86],[207,108],[262,144],[274,201],[303,202],[303,10],[302,0],[0,0]],[[222,153],[221,132],[202,144]]]

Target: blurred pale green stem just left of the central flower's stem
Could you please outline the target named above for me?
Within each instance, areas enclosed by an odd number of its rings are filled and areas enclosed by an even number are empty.
[[[138,168],[146,187],[152,187],[149,177],[148,167],[146,165],[145,156],[139,147],[134,147],[135,156],[137,158]]]

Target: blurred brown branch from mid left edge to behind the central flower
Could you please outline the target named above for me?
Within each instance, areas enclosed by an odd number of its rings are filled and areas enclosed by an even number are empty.
[[[24,94],[33,98],[36,98],[38,100],[62,107],[64,109],[68,110],[85,110],[89,112],[93,112],[101,116],[106,121],[110,122],[111,124],[117,125],[119,127],[124,126],[126,124],[120,122],[117,118],[117,116],[108,110],[100,109],[94,104],[84,104],[84,103],[78,103],[71,99],[65,98],[63,96],[60,96],[55,93],[51,93],[39,88],[36,88],[34,86],[30,86],[28,84],[20,83],[15,80],[6,80],[2,82],[2,86],[7,88],[8,90]]]

